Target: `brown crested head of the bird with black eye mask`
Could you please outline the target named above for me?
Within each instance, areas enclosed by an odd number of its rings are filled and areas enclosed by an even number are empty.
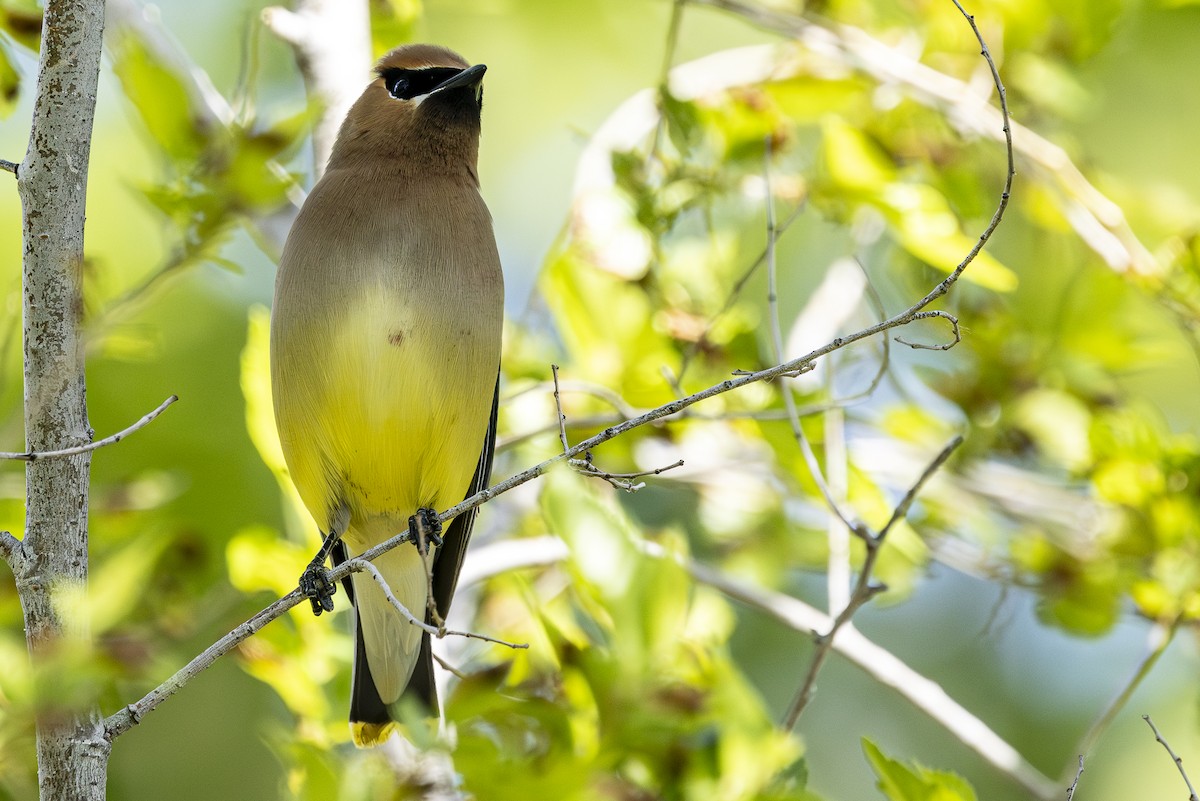
[[[424,171],[467,169],[474,177],[486,70],[434,44],[391,50],[346,115],[330,169],[386,164]]]

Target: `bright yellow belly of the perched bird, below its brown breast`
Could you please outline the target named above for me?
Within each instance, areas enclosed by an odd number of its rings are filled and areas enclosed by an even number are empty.
[[[320,327],[277,343],[276,414],[305,505],[325,531],[348,510],[359,550],[416,508],[466,496],[499,363],[487,339],[498,337],[380,291]]]

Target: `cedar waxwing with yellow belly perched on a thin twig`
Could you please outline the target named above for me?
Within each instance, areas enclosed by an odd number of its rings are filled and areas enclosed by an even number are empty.
[[[491,475],[504,279],[476,174],[484,71],[430,44],[385,55],[283,247],[271,385],[292,481],[326,535],[301,578],[316,614],[332,609],[326,554],[360,554]],[[427,591],[446,614],[474,518],[431,537],[432,585],[416,547],[374,561],[419,619]],[[350,727],[370,746],[402,695],[436,713],[430,637],[370,574],[346,591]]]

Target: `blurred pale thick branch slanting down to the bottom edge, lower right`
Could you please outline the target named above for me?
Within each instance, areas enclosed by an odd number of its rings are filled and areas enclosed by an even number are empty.
[[[683,567],[701,584],[755,609],[760,609],[788,628],[804,634],[829,631],[833,618],[798,598],[766,590],[756,584],[701,565],[661,544],[635,541],[638,548],[658,559],[670,559]],[[908,703],[943,727],[979,757],[1016,782],[1038,799],[1049,801],[1058,795],[1060,787],[1031,765],[1021,753],[986,723],[950,698],[937,682],[917,673],[887,649],[872,643],[857,628],[847,626],[832,638],[833,650],[870,675],[884,687],[890,687]]]

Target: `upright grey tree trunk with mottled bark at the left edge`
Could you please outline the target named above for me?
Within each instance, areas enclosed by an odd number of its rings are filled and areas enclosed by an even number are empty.
[[[18,171],[24,217],[25,447],[91,441],[80,337],[84,198],[104,26],[103,0],[49,0],[29,150]],[[11,555],[35,673],[86,640],[90,453],[34,459],[25,537]],[[44,675],[44,673],[42,674]],[[94,704],[38,698],[42,801],[104,797],[108,740]]]

